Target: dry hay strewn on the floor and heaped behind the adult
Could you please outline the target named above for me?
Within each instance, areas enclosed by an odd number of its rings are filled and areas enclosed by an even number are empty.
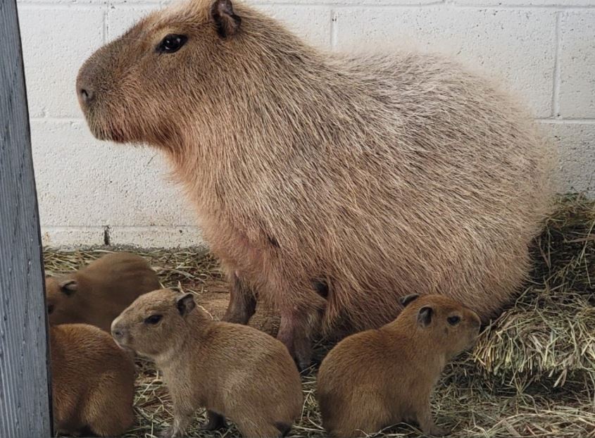
[[[534,271],[518,299],[484,330],[474,351],[446,367],[437,387],[435,418],[453,427],[452,437],[595,438],[595,202],[560,198],[532,251]],[[104,252],[48,249],[46,270],[75,269]],[[165,286],[194,292],[203,303],[213,296],[225,303],[225,284],[208,254],[136,252],[151,260]],[[126,437],[149,438],[169,425],[171,405],[151,363],[138,365],[138,425]],[[325,436],[314,390],[311,370],[303,376],[303,415],[292,436]],[[189,436],[238,436],[233,428],[201,433],[203,421],[199,415]],[[418,431],[403,426],[379,436]]]

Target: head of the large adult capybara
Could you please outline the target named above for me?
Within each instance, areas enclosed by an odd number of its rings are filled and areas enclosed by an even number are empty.
[[[189,0],[148,15],[101,47],[77,77],[93,134],[115,142],[171,142],[201,108],[223,104],[213,102],[215,90],[241,81],[225,73],[245,37],[237,35],[241,27],[230,0]]]

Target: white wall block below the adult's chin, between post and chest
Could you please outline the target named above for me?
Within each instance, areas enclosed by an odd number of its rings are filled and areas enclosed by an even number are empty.
[[[32,122],[44,226],[196,225],[157,151],[99,142],[83,121]]]

